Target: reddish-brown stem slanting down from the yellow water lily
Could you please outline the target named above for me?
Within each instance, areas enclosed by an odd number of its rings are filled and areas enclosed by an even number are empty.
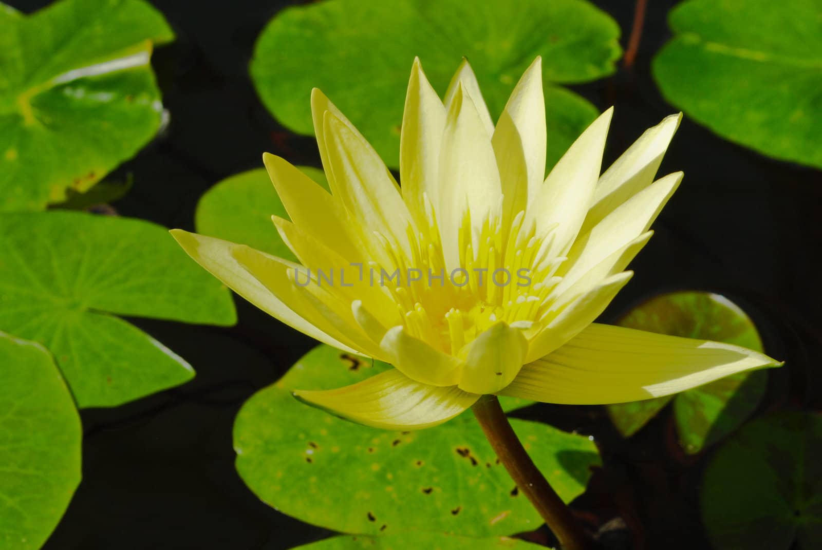
[[[520,491],[543,517],[559,540],[562,550],[589,550],[591,539],[585,534],[568,506],[533,464],[520,439],[508,423],[496,395],[483,395],[471,408],[497,458],[505,465]]]

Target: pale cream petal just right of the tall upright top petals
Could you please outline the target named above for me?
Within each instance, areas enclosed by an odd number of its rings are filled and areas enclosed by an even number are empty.
[[[559,224],[552,233],[550,256],[564,256],[580,231],[599,178],[612,114],[613,108],[608,109],[582,132],[528,205],[526,220],[536,222],[538,235]]]

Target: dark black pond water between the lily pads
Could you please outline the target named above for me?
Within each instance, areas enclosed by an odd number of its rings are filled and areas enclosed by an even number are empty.
[[[47,2],[11,3],[31,12]],[[193,229],[198,197],[226,176],[259,167],[262,151],[319,165],[314,141],[279,127],[247,75],[256,36],[287,2],[154,3],[178,34],[154,56],[171,124],[118,169],[135,181],[116,205],[122,215]],[[628,34],[632,2],[595,3]],[[600,109],[617,106],[607,160],[676,110],[649,75],[675,2],[649,3],[634,71],[574,87]],[[661,173],[679,169],[685,182],[606,317],[670,289],[726,293],[749,308],[769,353],[788,362],[772,374],[763,409],[818,409],[822,173],[765,159],[687,118]],[[83,411],[84,480],[46,548],[274,550],[326,536],[262,504],[233,469],[240,405],[313,345],[246,303],[238,307],[240,322],[231,329],[134,320],[187,358],[196,380],[118,409]],[[545,405],[525,414],[600,442],[607,467],[576,502],[580,511],[600,522],[622,515],[644,525],[646,548],[708,548],[696,506],[703,463],[677,454],[667,415],[626,442],[595,407]]]

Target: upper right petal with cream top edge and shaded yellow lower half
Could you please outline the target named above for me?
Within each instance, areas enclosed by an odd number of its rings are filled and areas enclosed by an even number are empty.
[[[649,128],[599,178],[593,193],[593,206],[584,227],[598,224],[608,213],[642,191],[653,182],[659,164],[662,164],[667,146],[677,132],[682,113],[663,118],[663,122]]]

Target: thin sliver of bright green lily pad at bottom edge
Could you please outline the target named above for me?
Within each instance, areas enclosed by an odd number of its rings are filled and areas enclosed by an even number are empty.
[[[331,537],[318,543],[306,544],[293,550],[529,550],[529,548],[545,548],[538,544],[526,543],[524,540],[507,537],[469,538],[456,537],[438,533],[403,533],[386,535],[384,537],[368,537],[354,534],[341,537]]]

